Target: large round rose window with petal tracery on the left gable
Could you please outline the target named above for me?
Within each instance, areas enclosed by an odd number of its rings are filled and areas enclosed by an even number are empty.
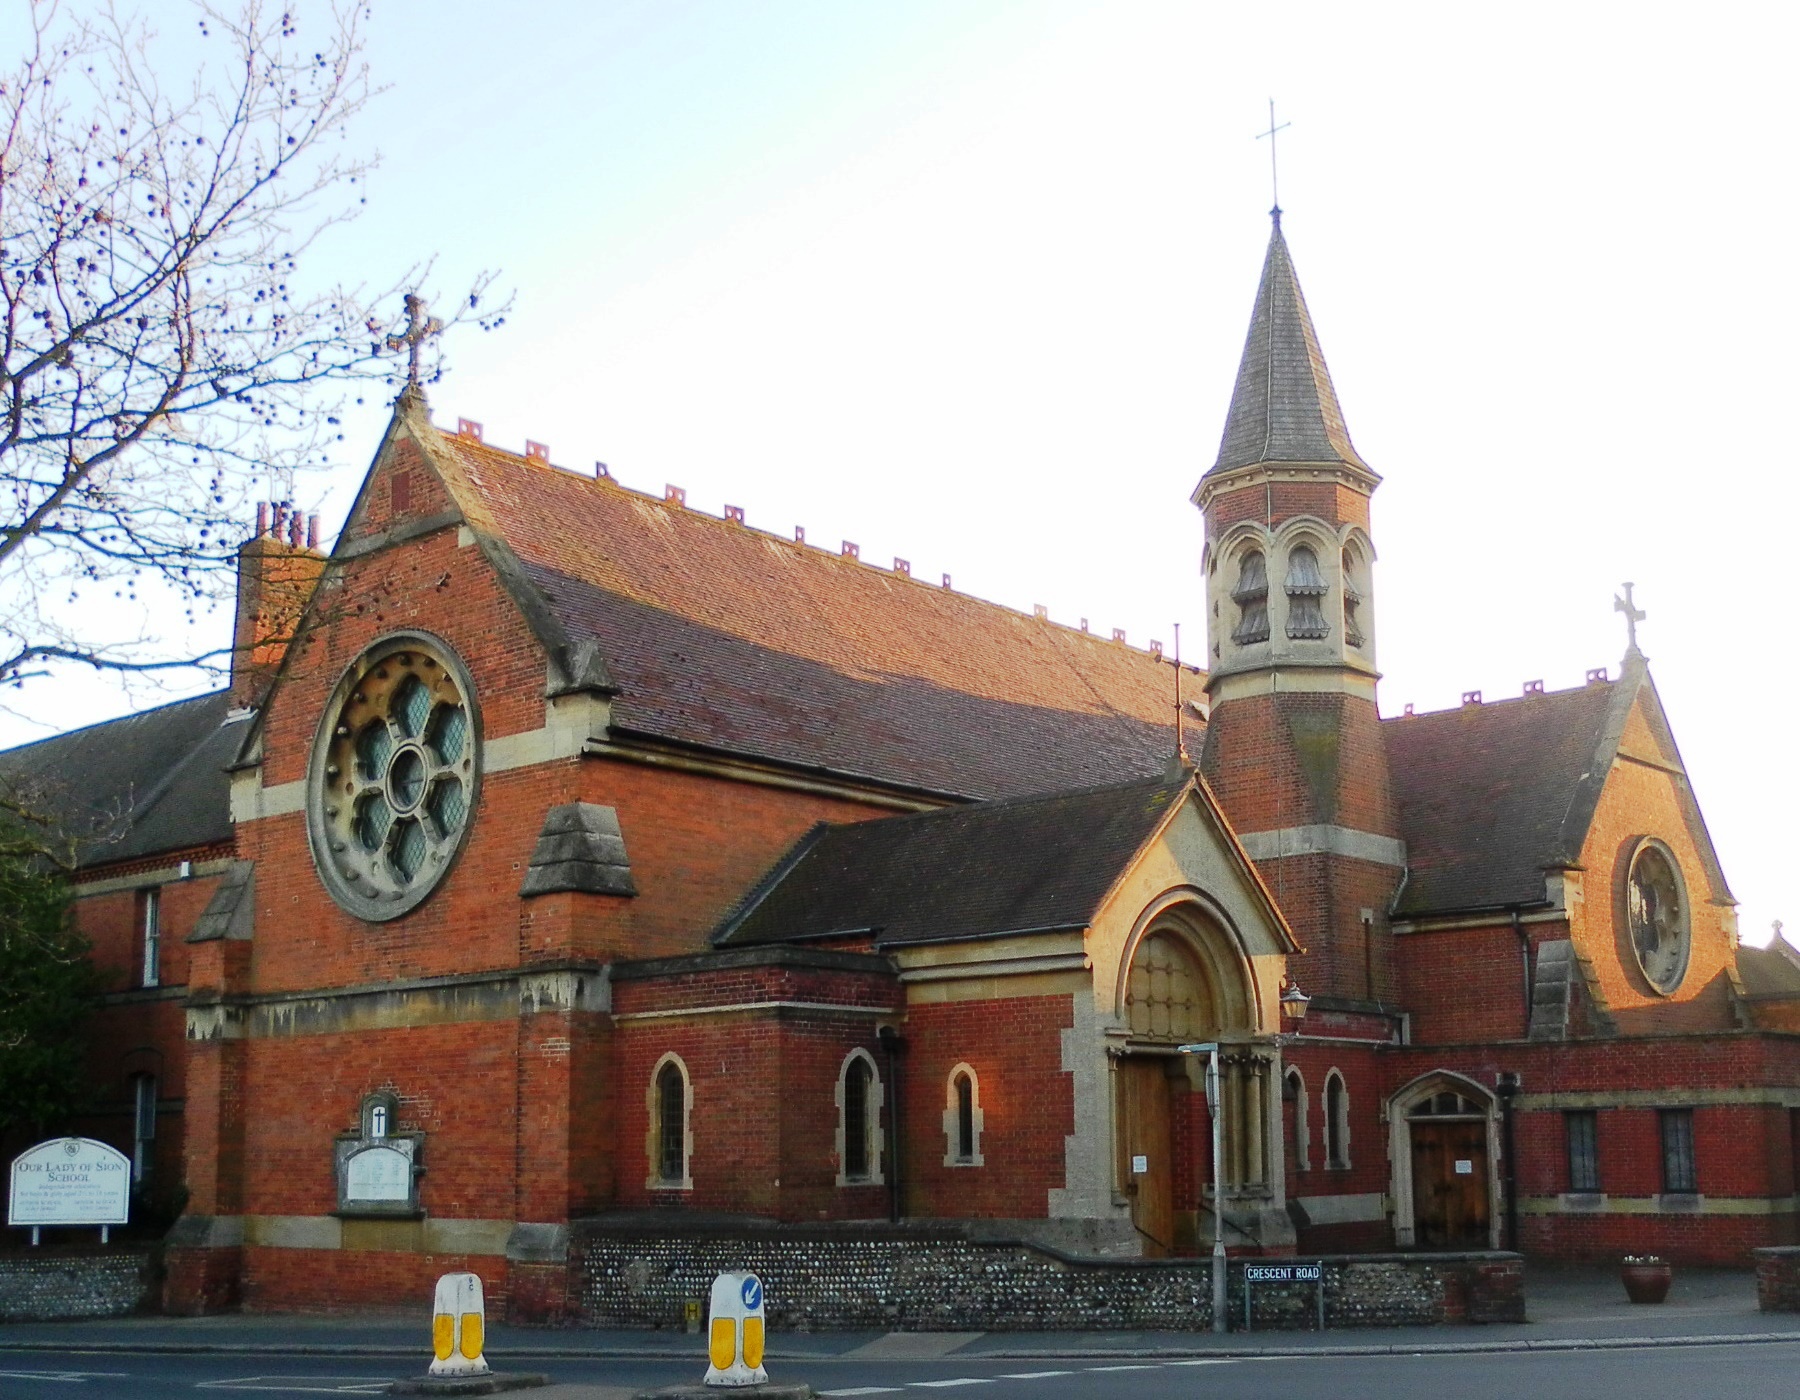
[[[340,905],[391,920],[437,887],[468,835],[475,736],[468,671],[434,637],[387,637],[344,673],[306,801],[313,862]]]

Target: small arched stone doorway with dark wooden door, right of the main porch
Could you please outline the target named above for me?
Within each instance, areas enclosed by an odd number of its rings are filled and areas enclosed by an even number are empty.
[[[1397,1089],[1386,1114],[1395,1243],[1499,1249],[1503,1164],[1494,1090],[1435,1069]]]

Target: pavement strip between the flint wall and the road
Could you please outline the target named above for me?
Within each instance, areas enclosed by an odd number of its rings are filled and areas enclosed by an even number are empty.
[[[1246,1357],[1442,1351],[1582,1351],[1721,1342],[1800,1342],[1800,1314],[1757,1310],[1748,1269],[1685,1269],[1669,1299],[1625,1301],[1616,1270],[1532,1267],[1526,1323],[1481,1326],[1337,1328],[1330,1332],[776,1332],[772,1360],[925,1360],[941,1357]],[[349,1315],[229,1314],[0,1324],[0,1353],[207,1353],[396,1357],[425,1353],[430,1312]],[[491,1324],[497,1368],[551,1359],[704,1355],[679,1330],[520,1328]]]

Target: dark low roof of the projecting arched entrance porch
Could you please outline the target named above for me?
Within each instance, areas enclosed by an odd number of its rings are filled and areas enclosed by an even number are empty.
[[[1186,790],[1186,779],[1139,779],[848,826],[821,822],[713,941],[873,934],[884,948],[1084,929]]]

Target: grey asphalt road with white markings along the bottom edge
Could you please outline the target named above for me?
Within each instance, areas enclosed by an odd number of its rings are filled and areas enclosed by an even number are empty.
[[[387,1380],[419,1369],[403,1357],[11,1351],[0,1355],[0,1400],[380,1395]],[[637,1389],[698,1380],[704,1364],[556,1359],[508,1360],[500,1369],[544,1371],[560,1382],[522,1393],[529,1396],[625,1400]],[[1796,1375],[1796,1342],[1206,1360],[841,1357],[776,1366],[778,1380],[808,1380],[821,1395],[907,1400],[968,1391],[992,1400],[1710,1400],[1795,1395]]]

